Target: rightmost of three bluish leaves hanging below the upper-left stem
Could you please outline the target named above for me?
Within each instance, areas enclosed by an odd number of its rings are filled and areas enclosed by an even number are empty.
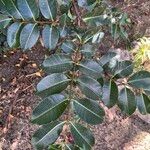
[[[54,26],[46,25],[42,37],[46,48],[55,49],[59,40],[58,29]]]

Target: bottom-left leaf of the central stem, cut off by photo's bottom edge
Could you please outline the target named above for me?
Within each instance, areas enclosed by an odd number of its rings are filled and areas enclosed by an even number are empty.
[[[50,144],[53,144],[62,132],[64,123],[65,122],[52,122],[43,125],[37,130],[32,137],[34,148],[42,150],[48,148]]]

